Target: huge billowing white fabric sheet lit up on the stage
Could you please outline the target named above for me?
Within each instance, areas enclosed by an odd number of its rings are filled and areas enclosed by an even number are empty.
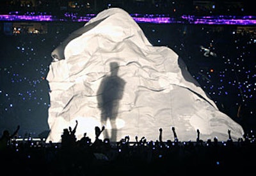
[[[172,127],[179,141],[195,141],[197,129],[202,140],[226,141],[228,130],[232,140],[243,136],[241,125],[218,110],[177,54],[150,44],[127,12],[109,8],[88,25],[65,46],[65,59],[50,65],[47,142],[60,142],[63,129],[76,120],[77,140],[85,132],[94,140],[95,126],[102,125],[100,138],[111,141],[156,141],[160,128],[163,141],[173,141]]]

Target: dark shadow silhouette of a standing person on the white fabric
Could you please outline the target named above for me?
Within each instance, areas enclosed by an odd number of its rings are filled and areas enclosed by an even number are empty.
[[[125,81],[118,77],[119,65],[116,62],[109,63],[111,74],[102,79],[97,93],[98,107],[101,111],[101,123],[106,126],[109,119],[111,124],[111,136],[104,131],[105,138],[116,141],[116,116],[118,115],[119,101],[123,97]]]

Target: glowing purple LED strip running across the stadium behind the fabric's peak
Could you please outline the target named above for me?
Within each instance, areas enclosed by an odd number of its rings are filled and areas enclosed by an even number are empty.
[[[0,15],[1,21],[70,21],[70,22],[88,22],[95,17],[95,14],[86,14],[79,16],[76,13],[65,13],[65,17],[58,18],[52,15]],[[181,17],[170,17],[164,14],[130,14],[138,23],[156,23],[156,24],[225,24],[225,25],[255,25],[255,16],[206,16],[196,17],[194,15],[182,15]]]

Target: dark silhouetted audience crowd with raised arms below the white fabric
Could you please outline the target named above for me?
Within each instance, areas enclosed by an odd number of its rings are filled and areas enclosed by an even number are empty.
[[[4,131],[0,141],[3,175],[215,175],[255,173],[256,143],[254,134],[233,141],[179,141],[175,128],[173,141],[131,142],[129,136],[116,143],[100,140],[104,131],[95,127],[95,140],[86,133],[76,139],[76,127],[63,129],[60,143],[33,139],[15,139],[17,130]],[[1,174],[2,175],[2,174]]]

